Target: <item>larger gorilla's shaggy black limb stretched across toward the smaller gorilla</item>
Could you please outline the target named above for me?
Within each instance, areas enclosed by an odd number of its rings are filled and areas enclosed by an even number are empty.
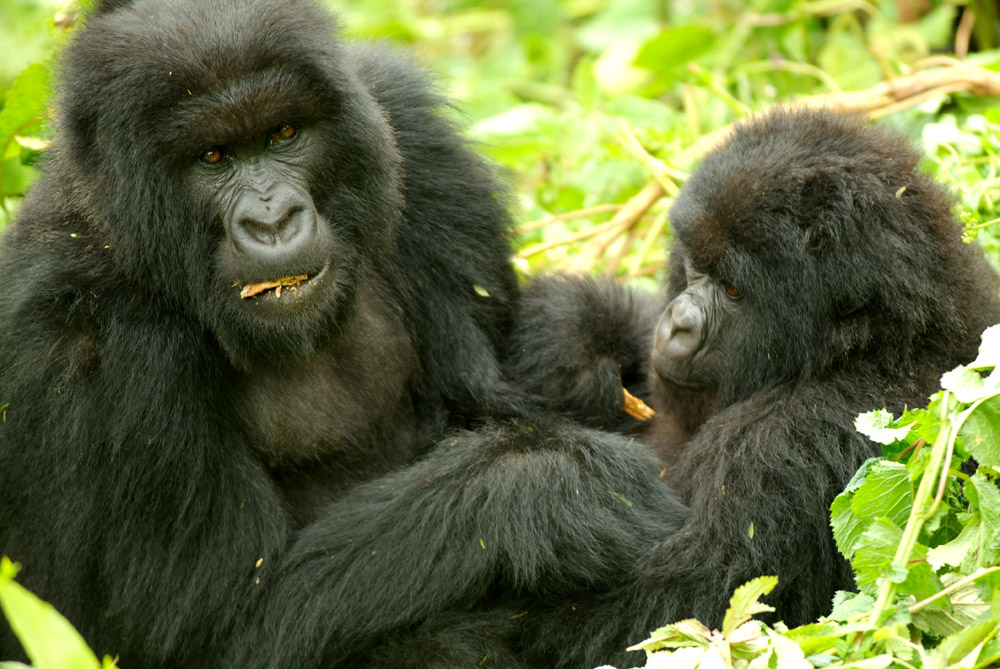
[[[686,517],[657,470],[630,440],[551,420],[461,432],[301,533],[269,586],[272,659],[345,662],[497,590],[608,588]]]

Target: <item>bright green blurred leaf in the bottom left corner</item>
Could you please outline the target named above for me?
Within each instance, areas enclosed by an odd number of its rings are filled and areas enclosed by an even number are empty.
[[[14,581],[18,569],[6,556],[0,557],[0,609],[24,645],[32,666],[35,669],[115,667],[114,660],[107,656],[98,662],[80,633],[51,604],[43,602]],[[0,662],[0,669],[26,666],[18,662]]]

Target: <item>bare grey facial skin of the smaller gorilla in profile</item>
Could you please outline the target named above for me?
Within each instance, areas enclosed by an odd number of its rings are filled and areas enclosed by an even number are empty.
[[[684,265],[687,288],[671,300],[656,324],[652,363],[657,375],[678,386],[708,389],[725,361],[726,333],[742,305],[731,283]]]

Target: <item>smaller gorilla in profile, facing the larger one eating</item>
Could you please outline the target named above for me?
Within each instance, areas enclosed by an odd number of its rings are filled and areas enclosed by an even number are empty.
[[[855,416],[922,404],[1000,320],[995,277],[918,161],[859,118],[774,111],[740,124],[673,205],[665,306],[610,282],[528,289],[514,373],[605,427],[623,427],[620,374],[656,409],[632,427],[691,508],[621,588],[530,616],[536,659],[631,666],[608,649],[671,620],[718,625],[762,574],[778,575],[767,599],[790,625],[853,589],[829,507],[878,453]]]

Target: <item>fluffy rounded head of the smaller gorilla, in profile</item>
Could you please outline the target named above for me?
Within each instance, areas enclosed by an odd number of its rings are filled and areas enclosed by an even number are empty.
[[[729,404],[832,366],[905,366],[915,342],[965,332],[940,268],[968,250],[918,160],[857,116],[778,109],[738,126],[670,212],[657,376]],[[990,303],[984,285],[968,299]]]

